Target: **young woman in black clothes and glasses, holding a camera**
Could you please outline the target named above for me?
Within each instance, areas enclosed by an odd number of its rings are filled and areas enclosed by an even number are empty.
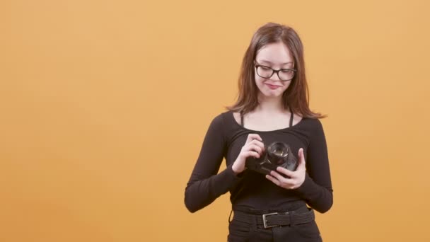
[[[313,211],[327,212],[333,203],[322,117],[309,109],[297,33],[263,25],[243,57],[237,102],[212,120],[204,138],[185,188],[187,209],[196,212],[230,192],[228,241],[322,241]],[[295,171],[246,168],[272,142],[289,144]],[[227,168],[218,173],[223,158]]]

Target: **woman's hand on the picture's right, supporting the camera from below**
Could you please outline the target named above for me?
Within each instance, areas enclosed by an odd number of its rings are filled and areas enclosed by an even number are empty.
[[[289,178],[285,178],[283,175],[287,175]],[[271,171],[270,175],[266,175],[266,178],[272,180],[272,183],[279,185],[281,188],[296,189],[299,188],[305,181],[306,176],[306,161],[303,155],[303,148],[298,150],[298,166],[296,171],[289,171],[286,168],[277,167],[277,171]]]

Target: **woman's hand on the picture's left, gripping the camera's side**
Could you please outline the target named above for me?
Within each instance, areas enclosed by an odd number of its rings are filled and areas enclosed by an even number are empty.
[[[248,134],[245,145],[243,145],[238,158],[234,161],[231,169],[236,175],[245,171],[245,161],[248,157],[253,156],[260,158],[265,151],[265,144],[262,142],[262,138],[258,134]]]

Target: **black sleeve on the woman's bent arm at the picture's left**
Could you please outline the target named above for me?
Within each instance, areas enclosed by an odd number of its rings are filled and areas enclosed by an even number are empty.
[[[212,120],[207,130],[199,158],[185,188],[185,206],[190,212],[211,204],[240,180],[231,166],[218,173],[226,151],[223,130],[223,117],[219,115]]]

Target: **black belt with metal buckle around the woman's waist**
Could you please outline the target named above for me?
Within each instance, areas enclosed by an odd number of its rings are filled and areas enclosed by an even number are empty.
[[[233,219],[246,223],[257,222],[257,225],[262,225],[265,229],[277,226],[294,226],[296,224],[307,224],[315,219],[313,209],[306,207],[307,212],[289,211],[289,212],[272,212],[269,214],[247,214],[240,211],[234,211]],[[301,210],[301,209],[298,209]]]

